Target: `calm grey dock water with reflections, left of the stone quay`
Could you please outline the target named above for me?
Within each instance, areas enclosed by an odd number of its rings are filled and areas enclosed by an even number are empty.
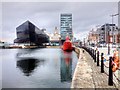
[[[2,88],[70,88],[75,52],[61,49],[3,49]]]

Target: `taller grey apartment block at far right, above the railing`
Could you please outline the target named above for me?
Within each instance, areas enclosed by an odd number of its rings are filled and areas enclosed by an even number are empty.
[[[115,24],[104,24],[100,28],[97,29],[99,34],[98,41],[101,44],[113,43],[117,42],[118,35],[118,27]]]

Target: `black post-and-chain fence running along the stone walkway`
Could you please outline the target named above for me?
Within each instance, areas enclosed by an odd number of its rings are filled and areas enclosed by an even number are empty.
[[[115,82],[118,82],[118,84],[120,84],[120,79],[116,76],[116,74],[112,71],[112,62],[113,62],[113,57],[109,57],[109,60],[106,60],[106,62],[109,62],[109,65],[107,66],[104,63],[104,53],[101,53],[97,50],[94,50],[92,48],[89,47],[81,47],[83,49],[85,49],[93,58],[94,62],[97,62],[97,66],[101,67],[101,73],[105,73],[106,75],[108,75],[108,85],[112,86],[113,84],[115,84]],[[100,64],[101,63],[101,64]],[[118,69],[120,71],[120,69]]]

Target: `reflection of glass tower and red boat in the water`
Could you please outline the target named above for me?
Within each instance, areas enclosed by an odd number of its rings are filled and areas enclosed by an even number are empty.
[[[72,52],[62,52],[61,57],[61,82],[71,82],[72,80]]]

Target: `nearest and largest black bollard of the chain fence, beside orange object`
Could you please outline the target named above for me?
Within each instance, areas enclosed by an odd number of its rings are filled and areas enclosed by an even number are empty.
[[[108,85],[113,86],[112,57],[109,58],[109,77]]]

